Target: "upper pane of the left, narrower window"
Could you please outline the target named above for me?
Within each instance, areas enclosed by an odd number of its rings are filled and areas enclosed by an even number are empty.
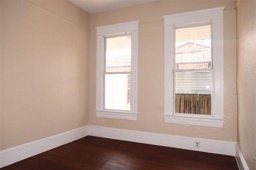
[[[131,71],[132,36],[106,38],[106,72]]]

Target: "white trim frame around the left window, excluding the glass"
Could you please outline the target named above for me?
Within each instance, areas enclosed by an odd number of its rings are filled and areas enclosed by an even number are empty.
[[[138,22],[125,22],[107,26],[99,26],[97,29],[97,73],[96,73],[96,116],[137,120],[138,115]],[[130,111],[104,110],[104,36],[122,35],[127,32],[132,33],[132,62],[131,62],[131,103]]]

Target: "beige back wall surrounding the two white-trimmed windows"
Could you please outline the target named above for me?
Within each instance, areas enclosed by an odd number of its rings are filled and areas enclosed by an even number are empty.
[[[236,141],[236,12],[235,1],[156,1],[91,14],[89,124],[162,134]],[[163,15],[226,6],[224,10],[224,127],[164,123]],[[96,26],[139,20],[138,121],[97,118]]]

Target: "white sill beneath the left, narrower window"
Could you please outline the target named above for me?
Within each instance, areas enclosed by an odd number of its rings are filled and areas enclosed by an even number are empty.
[[[111,119],[124,119],[124,120],[137,121],[137,115],[138,113],[96,110],[97,117],[104,117],[104,118],[111,118]]]

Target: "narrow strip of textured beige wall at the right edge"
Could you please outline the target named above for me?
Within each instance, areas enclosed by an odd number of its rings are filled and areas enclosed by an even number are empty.
[[[238,146],[256,169],[256,1],[239,0],[237,11]]]

